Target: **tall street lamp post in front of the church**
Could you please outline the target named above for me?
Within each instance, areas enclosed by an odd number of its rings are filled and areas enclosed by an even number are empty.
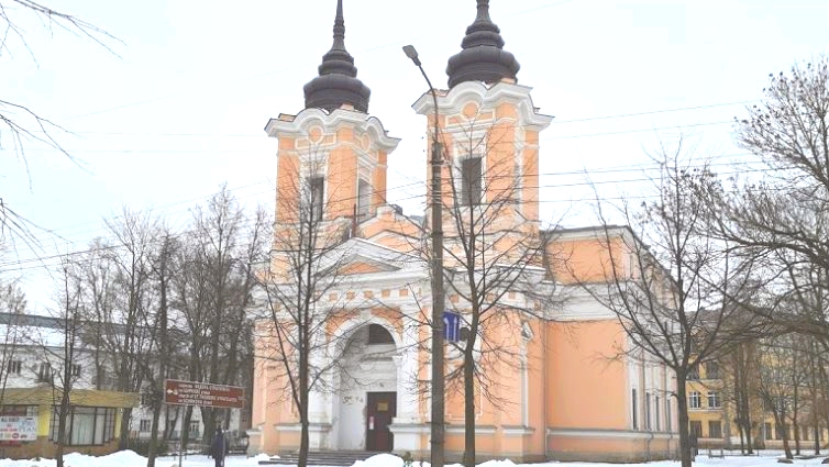
[[[443,467],[444,440],[444,376],[443,376],[443,209],[441,199],[441,143],[438,140],[438,93],[429,80],[413,46],[404,47],[406,56],[411,58],[429,85],[434,103],[432,129],[432,430],[431,463],[432,467]]]

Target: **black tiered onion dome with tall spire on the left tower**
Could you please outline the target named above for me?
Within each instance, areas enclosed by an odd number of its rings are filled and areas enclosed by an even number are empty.
[[[357,79],[354,57],[345,49],[343,0],[336,1],[334,44],[322,56],[322,64],[318,69],[320,76],[302,88],[306,94],[306,109],[319,108],[331,112],[343,104],[351,104],[361,112],[368,112],[368,97],[372,91]]]

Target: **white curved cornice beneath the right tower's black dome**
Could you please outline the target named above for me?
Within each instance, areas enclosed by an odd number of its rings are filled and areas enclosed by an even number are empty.
[[[553,121],[551,115],[538,113],[532,103],[530,91],[532,88],[510,82],[498,82],[491,87],[479,81],[465,81],[446,91],[438,93],[438,108],[441,114],[456,115],[463,113],[463,108],[469,102],[478,109],[494,109],[502,102],[511,102],[518,107],[518,119],[522,126],[535,131],[544,130]],[[431,92],[425,92],[412,104],[416,112],[429,115],[434,112],[434,101]]]

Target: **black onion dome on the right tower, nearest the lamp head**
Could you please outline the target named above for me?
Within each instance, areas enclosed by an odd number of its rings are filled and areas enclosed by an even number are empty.
[[[489,0],[478,1],[475,22],[466,27],[463,51],[453,55],[446,66],[449,87],[464,81],[498,82],[504,78],[516,78],[521,68],[516,57],[504,49],[500,30],[489,19]]]

